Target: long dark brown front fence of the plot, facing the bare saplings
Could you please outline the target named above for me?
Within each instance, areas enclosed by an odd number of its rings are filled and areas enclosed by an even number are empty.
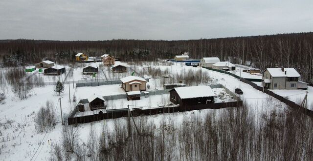
[[[176,106],[176,107],[162,107],[162,108],[152,108],[152,109],[133,109],[130,111],[134,117],[142,115],[157,115],[157,114],[166,114],[166,113],[175,113],[175,112],[185,112],[192,110],[202,110],[202,109],[221,109],[227,107],[240,107],[243,106],[243,101],[233,101],[233,102],[221,102],[221,103],[210,103],[210,104],[200,104],[192,106]],[[89,116],[81,117],[70,117],[67,118],[68,125],[77,124],[77,123],[88,123],[93,121],[100,121],[105,119],[116,119],[128,117],[128,111],[111,111],[107,113],[99,113]]]

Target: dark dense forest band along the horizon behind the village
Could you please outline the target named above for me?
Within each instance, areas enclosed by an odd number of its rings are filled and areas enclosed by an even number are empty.
[[[170,59],[188,52],[191,58],[219,57],[253,67],[294,67],[313,82],[313,32],[201,40],[0,40],[5,65],[27,65],[42,59],[73,61],[78,52],[112,54],[125,61]]]

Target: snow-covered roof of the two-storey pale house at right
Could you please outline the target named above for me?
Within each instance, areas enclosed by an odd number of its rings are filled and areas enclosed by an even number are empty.
[[[281,68],[267,68],[266,70],[268,70],[272,77],[300,77],[300,74],[294,68],[284,68],[284,71],[282,71]],[[266,70],[264,70],[262,73],[264,73]]]

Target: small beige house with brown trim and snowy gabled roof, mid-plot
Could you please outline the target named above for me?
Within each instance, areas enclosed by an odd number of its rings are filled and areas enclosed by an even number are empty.
[[[146,90],[147,80],[141,77],[128,76],[120,80],[122,81],[122,88],[125,90],[125,92]]]

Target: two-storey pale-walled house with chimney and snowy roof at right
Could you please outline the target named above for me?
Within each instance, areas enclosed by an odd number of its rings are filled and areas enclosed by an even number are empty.
[[[300,74],[294,68],[267,68],[261,73],[263,88],[298,89]]]

